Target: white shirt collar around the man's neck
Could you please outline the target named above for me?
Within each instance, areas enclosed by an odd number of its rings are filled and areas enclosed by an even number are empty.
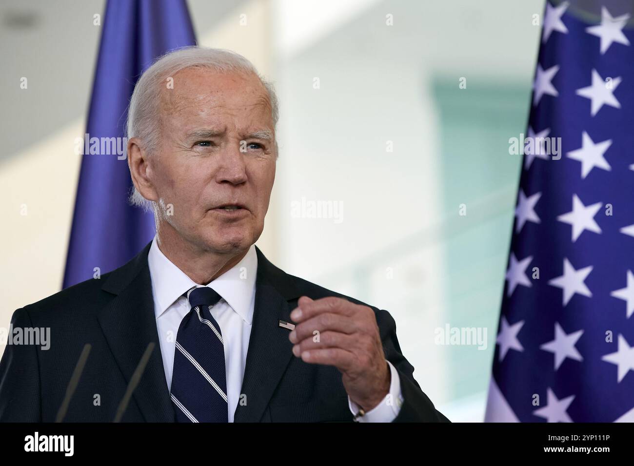
[[[152,240],[150,252],[148,252],[148,266],[152,277],[152,295],[156,318],[167,311],[167,308],[174,304],[184,292],[192,287],[200,286],[167,259],[159,249],[156,235]],[[251,245],[240,262],[207,284],[208,287],[221,295],[231,309],[249,325],[253,319],[254,306],[252,303],[254,303],[256,295],[256,273],[256,247]]]

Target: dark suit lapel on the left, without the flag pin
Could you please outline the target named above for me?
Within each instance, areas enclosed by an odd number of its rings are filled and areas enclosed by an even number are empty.
[[[126,382],[130,381],[148,344],[154,342],[152,355],[133,392],[133,399],[147,422],[174,422],[147,260],[151,244],[132,261],[110,274],[102,289],[117,296],[99,311],[97,318]]]

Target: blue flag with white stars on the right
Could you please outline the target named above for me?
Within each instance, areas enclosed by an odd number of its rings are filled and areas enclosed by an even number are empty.
[[[634,422],[633,11],[546,4],[486,421]]]

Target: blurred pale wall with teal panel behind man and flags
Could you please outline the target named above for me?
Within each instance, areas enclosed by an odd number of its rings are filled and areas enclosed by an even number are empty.
[[[280,97],[259,247],[390,311],[437,407],[482,420],[521,165],[508,139],[525,133],[544,0],[188,5],[200,45],[246,56]],[[61,287],[104,6],[0,2],[2,327]],[[486,345],[438,344],[447,326]]]

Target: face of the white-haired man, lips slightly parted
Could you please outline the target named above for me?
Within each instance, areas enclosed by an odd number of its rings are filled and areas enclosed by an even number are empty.
[[[161,143],[147,173],[159,209],[171,204],[173,215],[159,228],[204,250],[247,249],[262,233],[275,179],[266,89],[256,75],[190,68],[162,90],[160,108]]]

